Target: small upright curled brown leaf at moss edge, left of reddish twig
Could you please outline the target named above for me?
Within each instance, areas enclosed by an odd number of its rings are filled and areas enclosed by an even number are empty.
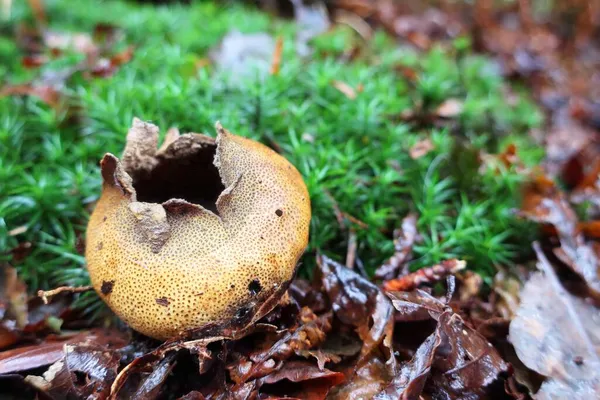
[[[412,250],[418,240],[417,215],[408,214],[402,227],[394,230],[394,255],[375,271],[379,279],[394,279],[412,258]]]

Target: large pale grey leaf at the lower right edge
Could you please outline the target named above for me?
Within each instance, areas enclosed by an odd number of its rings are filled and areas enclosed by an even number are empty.
[[[600,311],[568,293],[536,247],[539,266],[521,293],[510,324],[519,359],[548,377],[537,398],[600,396]]]

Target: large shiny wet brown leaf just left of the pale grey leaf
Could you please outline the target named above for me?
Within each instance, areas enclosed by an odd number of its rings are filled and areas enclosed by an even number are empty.
[[[434,398],[480,398],[508,371],[494,347],[445,303],[420,290],[389,296],[404,320],[422,318],[425,312],[437,321],[437,328],[381,399],[415,398],[421,390]]]

